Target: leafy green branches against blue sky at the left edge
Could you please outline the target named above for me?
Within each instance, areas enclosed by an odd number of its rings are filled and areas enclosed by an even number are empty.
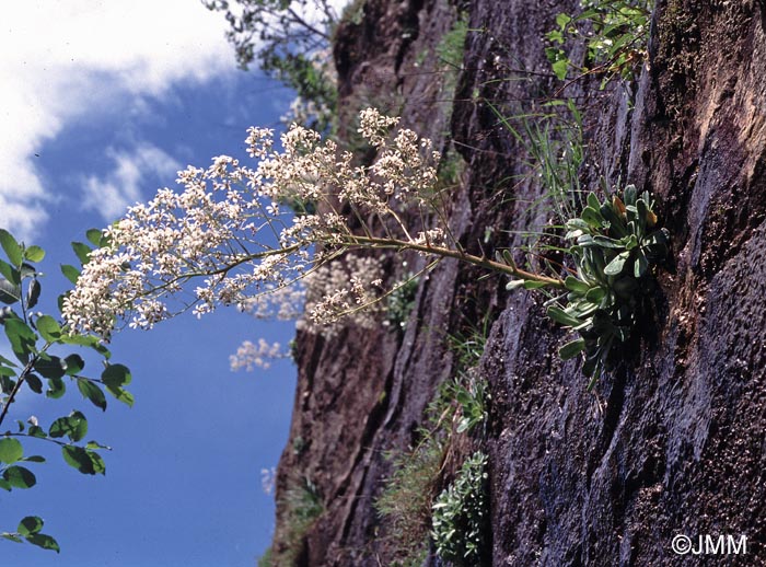
[[[89,240],[95,245],[103,242],[100,231],[89,231]],[[70,335],[56,317],[33,311],[42,292],[43,273],[36,264],[45,258],[45,251],[39,246],[19,243],[3,229],[0,229],[0,246],[7,257],[7,261],[0,259],[0,301],[5,304],[0,310],[0,325],[16,358],[13,361],[0,356],[0,426],[10,419],[13,402],[24,386],[35,394],[45,392],[46,397],[59,398],[66,393],[67,382],[74,382],[83,397],[102,410],[107,405],[104,391],[131,405],[132,396],[124,390],[130,382],[130,371],[123,364],[109,363],[111,352],[98,338]],[[85,264],[91,247],[78,242],[72,243],[72,247],[80,262]],[[78,268],[61,268],[65,276],[77,281]],[[72,347],[84,347],[103,359],[101,378],[82,374],[85,360],[79,354],[54,354],[58,348]],[[84,442],[86,435],[88,419],[78,409],[53,419],[47,429],[39,425],[37,417],[30,417],[26,421],[15,419],[13,429],[0,432],[0,488],[11,491],[32,488],[37,484],[35,474],[25,465],[44,463],[45,459],[36,454],[25,456],[22,441],[59,445],[63,462],[80,473],[104,474],[106,467],[98,451],[108,448],[96,441]],[[40,533],[42,528],[43,520],[30,516],[21,521],[15,532],[0,535],[12,542],[27,542],[58,552],[56,540]]]

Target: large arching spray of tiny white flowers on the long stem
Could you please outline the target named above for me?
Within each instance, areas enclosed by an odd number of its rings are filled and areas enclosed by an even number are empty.
[[[345,253],[444,242],[441,229],[426,224],[438,217],[432,188],[439,153],[411,130],[391,135],[397,124],[375,109],[361,113],[360,132],[379,150],[369,167],[293,125],[281,136],[281,152],[272,150],[271,130],[247,131],[247,153],[258,160],[254,169],[220,155],[207,170],[179,172],[181,193],[161,189],[106,229],[109,244],[91,254],[63,302],[70,328],[108,337],[119,320],[151,328],[186,309],[201,316],[221,304],[292,317],[301,309],[304,278],[320,290],[305,305],[311,325],[332,324],[341,313],[371,324],[365,317],[374,309],[362,312],[379,296],[380,262]],[[312,213],[293,213],[295,204],[312,204]],[[419,208],[410,216],[420,219],[417,225],[404,224],[397,213],[403,206]],[[368,222],[385,227],[386,236],[373,239]]]

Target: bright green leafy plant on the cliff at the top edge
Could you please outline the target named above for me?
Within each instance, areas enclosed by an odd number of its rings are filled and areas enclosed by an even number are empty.
[[[613,78],[629,79],[647,58],[651,0],[583,0],[582,12],[556,16],[556,28],[545,37],[546,55],[554,73],[565,80],[569,69],[603,73],[602,88]],[[564,50],[568,38],[585,42],[588,57],[578,68]]]

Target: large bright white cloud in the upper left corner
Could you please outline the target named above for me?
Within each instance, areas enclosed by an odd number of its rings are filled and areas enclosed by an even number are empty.
[[[3,7],[0,225],[23,236],[45,219],[43,205],[55,187],[45,186],[34,154],[67,124],[94,111],[120,112],[116,101],[126,95],[159,96],[181,81],[235,73],[225,26],[196,0]]]

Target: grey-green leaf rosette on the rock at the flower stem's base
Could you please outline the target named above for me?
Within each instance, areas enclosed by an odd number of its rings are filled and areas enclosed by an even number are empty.
[[[566,306],[549,306],[548,316],[580,334],[559,354],[568,359],[584,351],[589,389],[619,359],[617,347],[630,337],[651,289],[651,268],[668,255],[670,233],[655,228],[652,207],[648,192],[639,196],[628,185],[622,199],[601,202],[591,193],[580,217],[567,221],[576,273],[565,280]]]

